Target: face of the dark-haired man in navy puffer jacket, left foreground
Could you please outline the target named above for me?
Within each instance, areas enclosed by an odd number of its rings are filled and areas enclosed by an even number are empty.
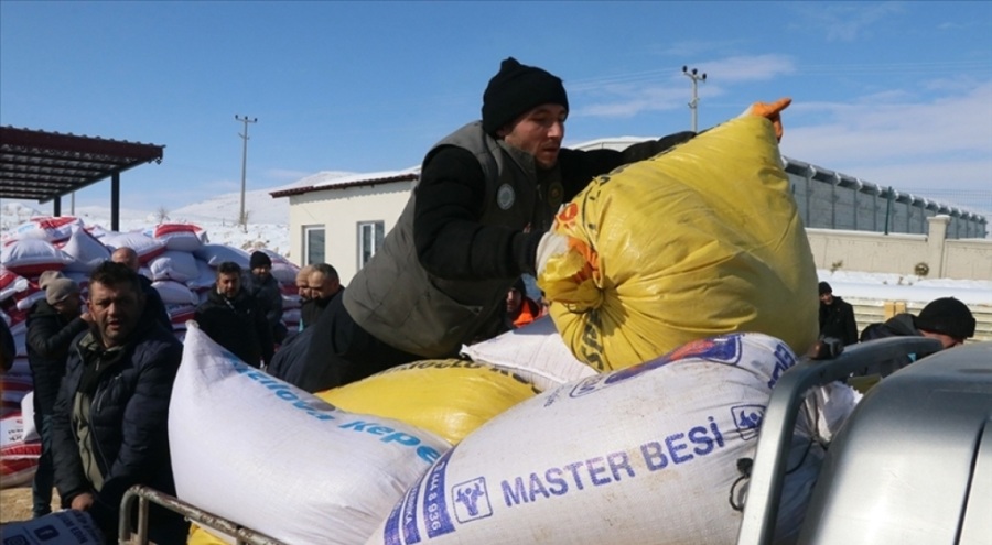
[[[106,348],[123,345],[144,309],[144,294],[130,283],[89,284],[89,313]]]

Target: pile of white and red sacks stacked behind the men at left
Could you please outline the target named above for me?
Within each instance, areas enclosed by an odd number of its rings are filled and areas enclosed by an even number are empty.
[[[247,270],[250,257],[238,248],[209,243],[206,231],[193,224],[114,232],[86,226],[75,217],[35,217],[7,236],[0,254],[0,319],[13,334],[18,356],[10,371],[0,375],[0,488],[30,483],[41,454],[30,399],[25,400],[32,390],[25,348],[28,314],[45,296],[39,276],[44,271],[60,271],[79,285],[85,298],[88,274],[121,247],[138,253],[140,272],[162,296],[180,339],[196,305],[206,298],[217,265],[234,261]],[[283,321],[295,330],[300,321],[299,268],[276,252],[261,251],[271,258],[272,276],[282,288]]]

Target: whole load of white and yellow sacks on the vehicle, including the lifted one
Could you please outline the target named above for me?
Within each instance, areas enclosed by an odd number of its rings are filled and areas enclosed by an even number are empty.
[[[603,176],[559,220],[569,250],[538,279],[553,323],[467,360],[310,395],[191,330],[170,414],[180,498],[293,544],[733,543],[737,462],[816,340],[772,124],[734,120]],[[797,426],[776,543],[819,472],[817,424]]]

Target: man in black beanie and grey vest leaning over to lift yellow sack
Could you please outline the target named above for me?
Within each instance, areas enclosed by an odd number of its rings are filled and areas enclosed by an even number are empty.
[[[596,175],[692,138],[681,132],[619,152],[561,148],[561,79],[510,57],[483,95],[482,120],[438,142],[382,247],[313,328],[308,368],[335,386],[425,358],[454,356],[506,315],[506,294],[535,274],[561,204]]]

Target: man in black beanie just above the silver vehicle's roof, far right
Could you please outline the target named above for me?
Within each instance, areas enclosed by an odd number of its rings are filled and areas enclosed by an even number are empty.
[[[902,313],[885,323],[872,324],[861,331],[861,340],[883,337],[929,337],[944,348],[962,345],[974,337],[974,316],[964,303],[953,297],[934,299],[920,310],[919,316]]]

